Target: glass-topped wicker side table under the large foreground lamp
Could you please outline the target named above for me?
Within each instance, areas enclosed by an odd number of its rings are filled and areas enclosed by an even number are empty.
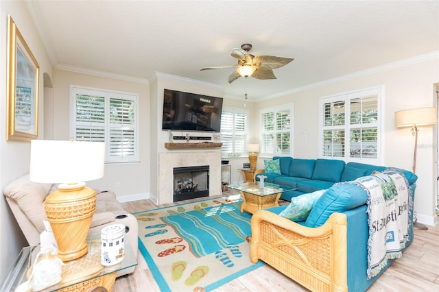
[[[104,287],[108,291],[112,291],[117,271],[137,265],[137,258],[127,236],[125,236],[125,257],[121,263],[110,267],[101,265],[100,233],[89,234],[87,245],[87,254],[64,263],[61,282],[42,291],[85,291],[92,287]],[[27,280],[29,268],[34,265],[39,251],[40,245],[23,247],[8,276],[1,284],[0,291],[15,291],[21,283]]]

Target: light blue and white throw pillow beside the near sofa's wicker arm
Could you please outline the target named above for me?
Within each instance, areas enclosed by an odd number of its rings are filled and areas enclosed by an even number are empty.
[[[319,190],[313,193],[293,197],[291,199],[291,203],[289,203],[287,208],[279,213],[279,216],[285,217],[292,221],[303,221],[307,219],[314,204],[316,204],[318,198],[320,198],[325,191],[326,190]]]

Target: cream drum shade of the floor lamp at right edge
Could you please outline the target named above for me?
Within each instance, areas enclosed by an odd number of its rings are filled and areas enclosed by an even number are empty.
[[[396,127],[413,127],[414,125],[432,125],[437,122],[436,108],[414,108],[395,112]]]

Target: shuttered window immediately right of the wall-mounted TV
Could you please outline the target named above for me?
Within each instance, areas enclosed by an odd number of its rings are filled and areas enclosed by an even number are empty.
[[[224,107],[221,114],[222,157],[247,153],[248,110]]]

